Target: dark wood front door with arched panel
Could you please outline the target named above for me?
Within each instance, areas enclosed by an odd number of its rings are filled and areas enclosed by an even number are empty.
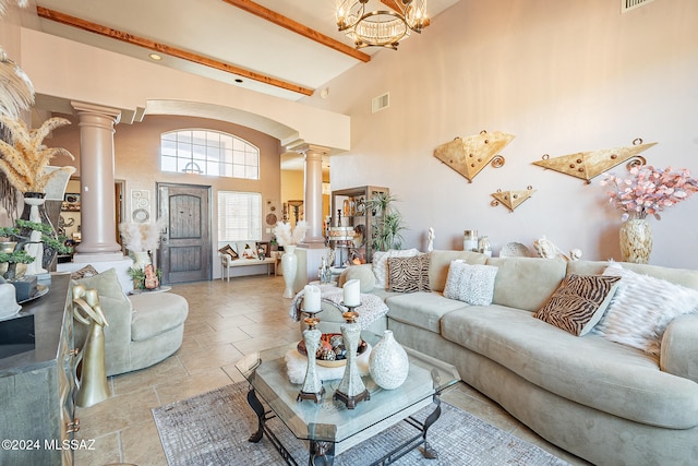
[[[163,283],[210,279],[210,187],[158,183]]]

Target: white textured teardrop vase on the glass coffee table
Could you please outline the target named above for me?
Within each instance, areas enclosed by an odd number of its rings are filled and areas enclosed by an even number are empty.
[[[405,383],[410,371],[410,361],[405,348],[386,330],[383,338],[373,347],[369,357],[371,379],[384,390],[395,390]]]

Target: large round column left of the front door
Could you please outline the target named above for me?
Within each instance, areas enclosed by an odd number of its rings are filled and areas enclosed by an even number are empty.
[[[113,261],[123,258],[116,240],[115,220],[115,124],[121,111],[83,103],[71,103],[80,117],[80,181],[82,242],[75,262]]]

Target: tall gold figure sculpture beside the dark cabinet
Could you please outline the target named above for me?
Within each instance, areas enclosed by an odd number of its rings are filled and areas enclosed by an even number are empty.
[[[81,311],[87,315],[83,315]],[[83,368],[75,397],[75,404],[86,408],[109,398],[104,331],[109,323],[99,306],[96,289],[87,289],[84,285],[73,286],[73,316],[79,322],[89,325],[85,347],[81,353]]]

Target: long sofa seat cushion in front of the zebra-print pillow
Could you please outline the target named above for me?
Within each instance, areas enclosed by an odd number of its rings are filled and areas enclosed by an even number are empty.
[[[581,405],[651,426],[698,425],[697,383],[593,333],[578,338],[530,312],[492,304],[444,314],[442,336]]]

